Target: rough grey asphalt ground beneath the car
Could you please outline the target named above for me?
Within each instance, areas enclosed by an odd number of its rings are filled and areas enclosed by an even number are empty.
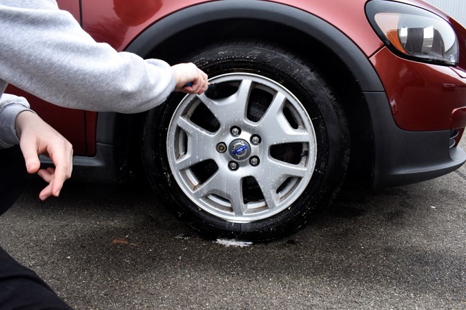
[[[465,146],[463,138],[463,147]],[[36,180],[0,245],[75,309],[466,309],[466,167],[355,192],[284,240],[199,238],[146,188]]]

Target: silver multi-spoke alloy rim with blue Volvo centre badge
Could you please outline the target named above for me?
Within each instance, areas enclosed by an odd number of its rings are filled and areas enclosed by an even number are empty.
[[[235,223],[270,218],[311,180],[317,152],[311,118],[289,90],[264,76],[223,74],[210,82],[235,90],[220,99],[187,95],[179,103],[167,134],[171,172],[184,194],[213,216]],[[251,106],[266,99],[263,113],[251,120]],[[211,114],[217,126],[193,121],[196,113]]]

